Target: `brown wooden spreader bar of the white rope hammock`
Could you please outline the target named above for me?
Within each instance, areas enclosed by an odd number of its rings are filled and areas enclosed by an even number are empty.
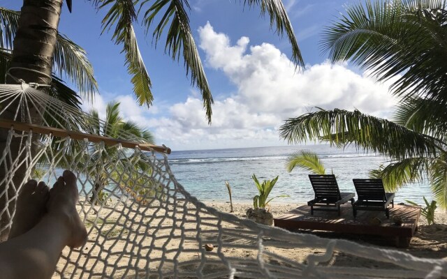
[[[52,127],[45,127],[45,126],[38,126],[35,124],[30,123],[22,123],[17,122],[13,120],[8,119],[0,119],[0,127],[10,129],[13,128],[14,130],[20,130],[20,131],[29,131],[32,130],[33,133],[39,133],[39,134],[45,134],[45,135],[54,135],[56,137],[71,137],[74,140],[84,140],[87,139],[89,142],[104,142],[105,145],[112,146],[115,144],[121,144],[124,147],[128,148],[135,148],[135,146],[139,146],[141,150],[144,151],[157,151],[160,153],[166,153],[170,154],[170,148],[166,146],[158,146],[153,144],[143,144],[141,142],[131,142],[129,140],[118,140],[113,139],[111,137],[103,137],[101,135],[93,135],[93,134],[87,134],[87,133],[79,133],[79,132],[72,132],[64,129],[59,128],[52,128]]]

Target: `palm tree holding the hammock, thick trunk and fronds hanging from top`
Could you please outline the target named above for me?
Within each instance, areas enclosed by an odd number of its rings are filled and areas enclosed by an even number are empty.
[[[137,22],[138,16],[140,16],[140,22],[143,23],[143,27],[147,31],[154,27],[152,36],[155,43],[161,41],[162,38],[166,38],[166,52],[174,60],[179,60],[180,56],[183,57],[186,73],[191,77],[191,84],[198,86],[198,89],[200,89],[206,117],[209,123],[211,123],[213,99],[189,26],[189,2],[187,0],[91,0],[91,3],[98,10],[108,10],[103,18],[103,32],[112,30],[113,43],[123,47],[126,57],[125,64],[129,75],[131,75],[133,91],[138,103],[149,106],[152,104],[153,99],[152,84],[145,64],[142,61],[133,27],[134,23]],[[67,4],[69,10],[71,10],[71,1],[67,0]],[[61,65],[63,64],[62,60],[58,61],[56,56],[59,34],[57,28],[61,15],[61,6],[62,0],[23,1],[20,17],[18,20],[13,19],[10,21],[15,21],[16,29],[6,29],[10,33],[15,33],[15,37],[12,34],[5,37],[8,40],[8,44],[13,45],[10,52],[11,60],[8,70],[14,78],[8,76],[6,79],[7,83],[17,83],[21,79],[27,83],[50,84],[50,77],[54,70],[53,61],[61,62]],[[244,6],[259,6],[261,15],[268,13],[270,25],[275,27],[279,36],[286,33],[293,50],[293,62],[297,66],[304,66],[291,23],[281,1],[247,0],[244,1]],[[57,70],[61,69],[57,68]],[[78,73],[73,72],[73,75],[78,75]],[[79,80],[82,80],[82,78]],[[16,107],[17,105],[13,104],[10,106],[10,109],[14,110]],[[13,113],[6,113],[2,117],[13,119],[13,115]],[[38,112],[31,113],[31,119],[34,119],[34,121],[37,119],[35,123],[39,123],[38,119],[40,119],[40,116]],[[5,148],[1,143],[6,142],[6,135],[7,132],[5,130],[0,130],[0,150]],[[12,156],[18,154],[18,144],[20,143],[15,142],[11,144],[10,151]],[[0,167],[3,170],[9,168],[10,166]],[[4,174],[1,172],[0,175]],[[18,171],[15,180],[23,180],[23,177],[18,175],[20,173],[24,174],[24,172]],[[4,186],[0,186],[0,188],[4,188]],[[4,207],[5,202],[0,199],[1,208]],[[2,223],[8,223],[8,221],[7,216],[1,216]]]

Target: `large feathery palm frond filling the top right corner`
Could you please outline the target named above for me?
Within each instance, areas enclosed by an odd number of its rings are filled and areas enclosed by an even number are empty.
[[[397,96],[447,104],[445,8],[441,0],[359,3],[325,29],[321,47],[332,61],[351,59],[379,80],[400,75],[390,87]]]

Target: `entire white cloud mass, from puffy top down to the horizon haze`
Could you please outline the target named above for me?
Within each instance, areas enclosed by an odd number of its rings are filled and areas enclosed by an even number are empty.
[[[242,37],[235,45],[208,23],[199,29],[200,48],[205,64],[221,71],[237,90],[228,96],[214,96],[212,125],[205,118],[203,101],[196,91],[168,109],[168,114],[152,107],[138,107],[130,96],[119,96],[122,113],[151,130],[157,144],[173,150],[212,149],[284,144],[277,129],[288,117],[309,112],[313,107],[346,110],[354,108],[376,116],[388,116],[396,101],[388,84],[359,75],[346,65],[328,62],[295,66],[277,47],[268,43],[249,46]],[[219,98],[217,98],[219,97]]]

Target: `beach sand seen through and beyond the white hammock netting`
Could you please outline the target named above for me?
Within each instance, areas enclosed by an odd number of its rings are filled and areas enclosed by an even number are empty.
[[[230,204],[226,202],[206,202],[207,206],[217,209],[222,212],[229,213]],[[89,231],[89,242],[82,250],[64,250],[64,255],[69,255],[70,258],[78,261],[78,265],[82,268],[75,268],[72,264],[67,264],[67,260],[64,257],[59,261],[57,270],[63,274],[63,277],[68,277],[74,273],[74,278],[87,277],[85,271],[93,270],[98,277],[100,274],[112,274],[114,278],[122,278],[129,276],[129,278],[135,278],[134,273],[127,273],[126,269],[119,271],[113,271],[113,265],[127,266],[144,266],[145,259],[149,260],[149,269],[152,272],[158,272],[163,266],[163,275],[168,272],[169,269],[173,269],[173,265],[170,263],[161,264],[161,259],[177,258],[179,262],[186,262],[190,260],[197,260],[203,257],[203,254],[197,252],[196,235],[198,229],[201,230],[200,236],[203,239],[203,245],[206,243],[214,243],[216,245],[216,239],[218,234],[215,230],[215,226],[218,220],[212,218],[207,211],[200,210],[197,212],[187,211],[186,219],[173,220],[173,216],[182,216],[184,212],[182,209],[186,207],[191,209],[191,204],[183,206],[183,202],[177,201],[177,206],[169,204],[166,208],[159,209],[156,204],[149,206],[149,209],[144,206],[135,209],[133,206],[126,206],[126,204],[119,205],[115,211],[111,210],[111,207],[105,207],[97,214],[94,210],[89,210],[82,215],[87,220],[87,230]],[[251,207],[251,204],[235,203],[233,204],[233,216],[244,218],[245,212]],[[270,206],[270,212],[274,216],[280,216],[287,213],[291,209],[298,207],[296,204],[272,204]],[[79,208],[80,209],[80,208]],[[99,210],[96,207],[96,210]],[[175,210],[174,210],[175,209]],[[81,209],[80,209],[81,211]],[[200,215],[201,225],[197,226],[197,215]],[[335,239],[349,239],[362,245],[376,246],[386,249],[396,249],[404,252],[408,252],[416,257],[425,258],[437,258],[447,259],[447,214],[444,211],[436,212],[435,225],[427,225],[425,218],[421,216],[418,224],[418,232],[411,239],[409,248],[395,248],[390,246],[388,241],[384,241],[381,237],[377,236],[359,236],[359,235],[346,235],[335,233],[318,233],[318,236],[323,238],[335,238]],[[82,216],[82,217],[83,217]],[[156,216],[156,217],[154,217]],[[164,218],[170,216],[170,218]],[[143,225],[142,225],[143,224]],[[149,226],[146,226],[150,224]],[[146,227],[145,227],[146,226]],[[172,228],[175,227],[173,230]],[[228,223],[223,227],[228,229],[241,229],[237,223]],[[247,230],[247,232],[249,232]],[[185,241],[182,242],[182,235],[186,236]],[[309,234],[309,232],[303,232]],[[167,241],[169,239],[169,241]],[[98,244],[97,242],[100,242]],[[225,241],[232,244],[240,245],[240,248],[232,248],[231,246],[222,248],[221,252],[226,257],[239,258],[241,260],[256,259],[257,250],[251,248],[256,244],[256,235],[254,239],[241,239],[235,234],[234,236],[226,236]],[[150,250],[143,244],[150,244],[152,242],[156,250]],[[129,245],[131,243],[131,245]],[[268,244],[268,243],[267,243]],[[132,246],[132,247],[131,247]],[[183,249],[191,249],[191,252],[178,253],[179,247]],[[135,250],[136,249],[136,250]],[[124,257],[120,256],[122,251],[128,251]],[[305,263],[308,255],[323,254],[325,249],[309,247],[301,248],[277,248],[275,246],[268,246],[266,250],[269,252],[281,255],[284,258],[291,259],[294,262]],[[195,252],[194,252],[195,251]],[[208,252],[206,257],[217,258],[217,248]],[[138,255],[138,256],[133,256]],[[135,257],[141,257],[136,260]],[[279,263],[281,264],[281,263]],[[335,266],[355,266],[367,267],[372,269],[381,268],[395,268],[390,264],[383,262],[376,262],[372,259],[365,259],[359,257],[353,257],[342,252],[335,252],[332,256],[330,264]],[[66,268],[64,268],[66,266]],[[84,271],[82,271],[84,269]],[[187,271],[195,271],[196,265],[190,264],[189,266],[183,266],[182,269]],[[84,273],[83,273],[84,272]],[[138,272],[138,271],[137,271]],[[157,273],[156,273],[157,274]],[[169,277],[169,276],[168,276]],[[193,277],[193,276],[192,276]],[[59,278],[59,276],[54,276]],[[94,277],[96,278],[96,277]],[[126,277],[127,278],[127,277]],[[225,277],[223,277],[225,278]]]

